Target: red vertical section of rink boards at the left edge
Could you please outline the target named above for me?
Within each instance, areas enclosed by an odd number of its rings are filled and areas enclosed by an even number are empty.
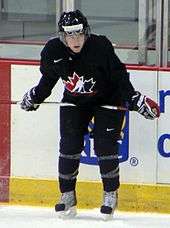
[[[0,98],[11,100],[10,63],[0,61]],[[0,103],[0,202],[9,202],[11,105]]]

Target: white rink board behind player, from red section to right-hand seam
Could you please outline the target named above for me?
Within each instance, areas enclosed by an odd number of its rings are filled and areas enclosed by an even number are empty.
[[[157,72],[131,70],[131,81],[137,90],[157,100]],[[36,85],[39,67],[12,65],[12,100]],[[63,86],[54,88],[50,101],[60,101]],[[56,95],[57,94],[57,95]],[[19,177],[57,178],[59,155],[59,109],[41,105],[36,112],[25,112],[12,105],[11,175]],[[121,181],[126,183],[156,183],[157,181],[157,121],[145,120],[136,112],[129,119],[129,159],[121,163]],[[132,166],[130,158],[137,158]],[[99,180],[99,168],[81,164],[80,180]]]

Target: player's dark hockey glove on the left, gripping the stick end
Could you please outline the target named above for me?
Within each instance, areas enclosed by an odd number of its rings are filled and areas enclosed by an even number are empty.
[[[35,96],[35,87],[30,89],[25,95],[20,103],[20,106],[25,111],[35,111],[39,108],[38,104],[35,104],[33,97]]]

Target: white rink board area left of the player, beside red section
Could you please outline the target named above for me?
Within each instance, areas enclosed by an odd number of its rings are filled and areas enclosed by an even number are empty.
[[[11,99],[20,101],[35,86],[39,66],[11,66]],[[61,80],[48,101],[60,101]],[[19,105],[11,108],[11,175],[56,178],[59,151],[59,106],[41,105],[36,112],[25,112]]]

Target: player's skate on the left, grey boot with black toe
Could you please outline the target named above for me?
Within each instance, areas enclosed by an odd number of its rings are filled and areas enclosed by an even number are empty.
[[[55,211],[58,217],[67,219],[76,216],[76,204],[75,191],[62,193],[60,202],[55,205]]]

